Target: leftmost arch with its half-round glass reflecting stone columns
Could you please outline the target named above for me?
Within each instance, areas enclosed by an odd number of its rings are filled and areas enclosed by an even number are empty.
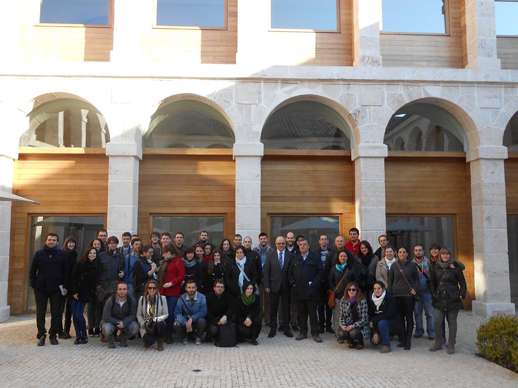
[[[70,136],[69,142],[73,144],[70,146],[75,146],[76,144],[80,147],[87,146],[85,131],[87,130],[86,126],[89,122],[94,123],[94,128],[89,128],[89,131],[92,129],[99,131],[99,139],[95,139],[93,137],[90,139],[90,141],[95,141],[95,145],[92,146],[100,146],[104,148],[106,147],[106,143],[110,141],[110,133],[104,115],[90,101],[75,94],[67,92],[41,94],[32,98],[30,102],[25,102],[23,106],[19,108],[19,111],[26,113],[25,117],[27,118],[26,125],[20,128],[20,132],[18,133],[20,146],[38,146],[38,144],[46,146],[48,143],[41,143],[37,140],[37,131],[40,133],[46,132],[45,128],[42,128],[41,125],[46,123],[50,118],[53,118],[56,112],[58,112],[58,115],[63,118],[64,112],[68,112],[68,120],[72,120],[71,116],[74,115],[74,120],[77,122],[76,124],[78,125],[79,130],[84,132],[79,133],[78,135],[76,133],[77,128],[67,128]],[[23,132],[21,132],[22,130]],[[64,123],[61,130],[65,130]],[[75,137],[74,140],[72,140],[73,135]],[[59,133],[56,136],[59,138]],[[61,147],[66,145],[64,145],[64,141],[58,140],[57,146]]]

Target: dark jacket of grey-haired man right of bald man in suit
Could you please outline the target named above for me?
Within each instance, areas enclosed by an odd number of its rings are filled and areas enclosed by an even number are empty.
[[[292,258],[288,270],[288,281],[296,299],[318,299],[318,290],[324,279],[324,266],[320,257],[308,252],[306,261],[303,260],[300,253]]]

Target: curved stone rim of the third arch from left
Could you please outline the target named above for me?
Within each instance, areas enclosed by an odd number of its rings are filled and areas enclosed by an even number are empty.
[[[254,121],[257,124],[261,125],[261,133],[260,137],[262,138],[262,131],[264,129],[264,126],[266,125],[267,121],[269,120],[272,115],[274,115],[277,111],[279,111],[281,108],[286,107],[287,105],[290,105],[294,102],[316,102],[320,103],[323,106],[329,108],[330,110],[334,111],[336,113],[336,119],[343,121],[344,124],[347,125],[346,131],[344,132],[344,135],[346,135],[351,143],[351,150],[357,145],[355,133],[357,133],[357,124],[354,120],[354,117],[351,115],[351,113],[344,108],[340,103],[337,101],[334,101],[330,98],[316,95],[316,94],[299,94],[290,98],[285,99],[281,103],[279,103],[274,109],[272,109],[269,112],[264,112],[262,120],[260,121]],[[267,114],[266,114],[267,113]]]

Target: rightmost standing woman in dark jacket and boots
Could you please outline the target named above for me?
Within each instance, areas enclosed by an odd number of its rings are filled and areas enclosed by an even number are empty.
[[[448,354],[455,352],[455,339],[457,337],[457,315],[462,307],[462,300],[466,299],[466,279],[462,268],[452,260],[452,252],[444,247],[440,251],[440,261],[430,275],[430,292],[432,306],[434,306],[435,332],[441,330],[444,317],[448,319]],[[441,340],[435,337],[435,345],[430,351],[442,349]]]

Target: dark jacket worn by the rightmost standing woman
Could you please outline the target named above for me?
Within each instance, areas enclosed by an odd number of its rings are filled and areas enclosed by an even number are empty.
[[[444,275],[444,277],[443,277]],[[438,310],[448,310],[462,307],[462,299],[465,299],[467,286],[461,267],[441,268],[434,266],[430,275],[431,305]]]

